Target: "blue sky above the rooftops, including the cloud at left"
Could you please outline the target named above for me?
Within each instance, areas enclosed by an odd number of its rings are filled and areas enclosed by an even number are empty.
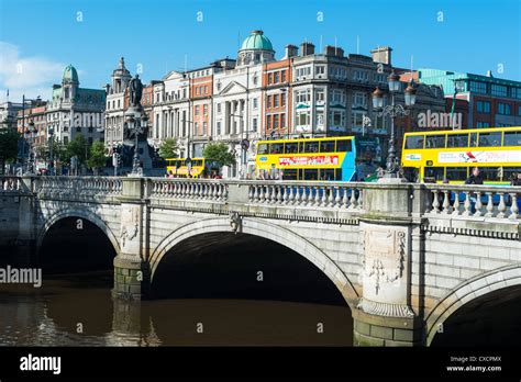
[[[81,87],[100,88],[120,56],[145,81],[167,70],[235,57],[264,30],[284,55],[303,40],[359,53],[393,48],[396,66],[433,67],[521,80],[519,0],[0,0],[0,101],[47,99],[63,67]],[[81,13],[78,13],[81,12]],[[202,22],[197,20],[202,12]],[[318,21],[322,12],[323,21]],[[440,12],[443,12],[440,13]],[[199,14],[200,15],[200,14]],[[81,19],[81,20],[80,20]],[[443,21],[441,21],[443,19]],[[137,25],[137,26],[135,26]],[[498,72],[502,65],[503,72]]]

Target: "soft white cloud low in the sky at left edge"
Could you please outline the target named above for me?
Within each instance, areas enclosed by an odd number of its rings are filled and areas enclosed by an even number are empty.
[[[44,57],[22,56],[16,45],[0,41],[0,102],[21,102],[22,96],[47,100],[52,85],[62,78],[65,65]]]

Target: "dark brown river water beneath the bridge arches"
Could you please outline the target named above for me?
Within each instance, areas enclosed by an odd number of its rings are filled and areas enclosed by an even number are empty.
[[[346,306],[246,299],[111,297],[112,272],[0,285],[2,346],[351,346]]]

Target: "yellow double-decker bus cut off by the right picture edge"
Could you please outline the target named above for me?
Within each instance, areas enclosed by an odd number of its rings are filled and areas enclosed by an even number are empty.
[[[479,167],[485,184],[521,172],[521,126],[406,133],[401,165],[411,181],[464,183]]]

